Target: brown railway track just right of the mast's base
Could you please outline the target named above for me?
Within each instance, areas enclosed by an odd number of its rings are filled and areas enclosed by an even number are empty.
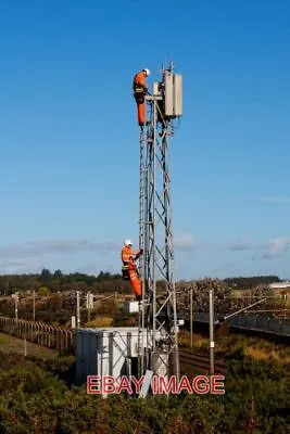
[[[193,369],[200,373],[210,373],[210,357],[204,354],[191,353],[187,349],[179,349],[180,363],[185,371]],[[214,373],[226,374],[228,372],[227,363],[224,360],[214,361]]]

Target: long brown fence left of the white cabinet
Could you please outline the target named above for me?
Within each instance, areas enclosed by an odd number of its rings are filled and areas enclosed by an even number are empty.
[[[43,321],[26,321],[0,316],[0,331],[58,350],[73,350],[75,344],[73,329],[47,324]]]

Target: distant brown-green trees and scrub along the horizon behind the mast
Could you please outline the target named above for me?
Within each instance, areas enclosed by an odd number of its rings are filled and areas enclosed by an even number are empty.
[[[274,293],[267,288],[265,282],[269,283],[277,280],[276,277],[257,277],[257,278],[238,278],[242,279],[243,284],[249,284],[247,296],[268,297],[263,305],[263,309],[283,309],[286,302],[279,297],[273,297]],[[245,279],[245,280],[244,280]],[[234,279],[235,280],[235,279]],[[190,306],[190,292],[193,294],[193,310],[209,311],[209,288],[214,290],[215,311],[230,314],[237,309],[249,306],[253,302],[251,298],[237,297],[242,295],[243,290],[232,289],[234,280],[229,279],[228,283],[223,280],[203,279],[200,281],[179,281],[176,283],[178,290],[177,307],[180,311],[186,310]],[[260,286],[251,289],[252,283],[261,283]],[[238,284],[238,283],[237,283]],[[164,282],[157,282],[159,291],[164,289]],[[236,286],[234,286],[236,288]],[[18,294],[18,318],[31,319],[34,306],[36,305],[36,320],[42,320],[55,326],[68,326],[71,317],[76,314],[76,291],[80,292],[80,315],[81,323],[90,320],[100,319],[102,317],[113,318],[112,324],[124,323],[124,312],[122,305],[117,299],[106,298],[104,303],[100,299],[105,296],[117,294],[123,297],[134,297],[134,293],[128,281],[124,281],[119,275],[110,275],[109,272],[100,272],[98,277],[80,273],[63,275],[61,270],[53,273],[43,269],[40,275],[23,275],[23,276],[0,276],[0,314],[8,317],[15,315],[15,301],[11,297],[11,293]],[[86,309],[86,295],[90,291],[94,296],[94,306],[88,317]],[[128,295],[129,294],[129,295]],[[256,301],[256,298],[254,298]],[[260,307],[260,306],[259,306]],[[278,316],[279,314],[265,312],[265,315]],[[133,323],[134,317],[127,318],[127,324]]]

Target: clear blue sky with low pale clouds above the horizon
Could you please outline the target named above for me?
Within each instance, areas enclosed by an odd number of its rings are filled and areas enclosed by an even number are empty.
[[[290,277],[289,47],[288,0],[2,1],[0,272],[118,271],[138,240],[131,79],[173,60],[176,278]]]

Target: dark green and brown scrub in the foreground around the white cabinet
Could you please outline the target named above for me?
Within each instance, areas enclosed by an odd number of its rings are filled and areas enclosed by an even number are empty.
[[[200,345],[202,337],[194,336]],[[202,345],[200,345],[202,347]],[[276,354],[265,361],[247,348]],[[262,340],[220,336],[229,362],[225,395],[128,399],[87,395],[74,386],[74,357],[38,359],[1,354],[3,434],[287,434],[290,427],[289,348]]]

